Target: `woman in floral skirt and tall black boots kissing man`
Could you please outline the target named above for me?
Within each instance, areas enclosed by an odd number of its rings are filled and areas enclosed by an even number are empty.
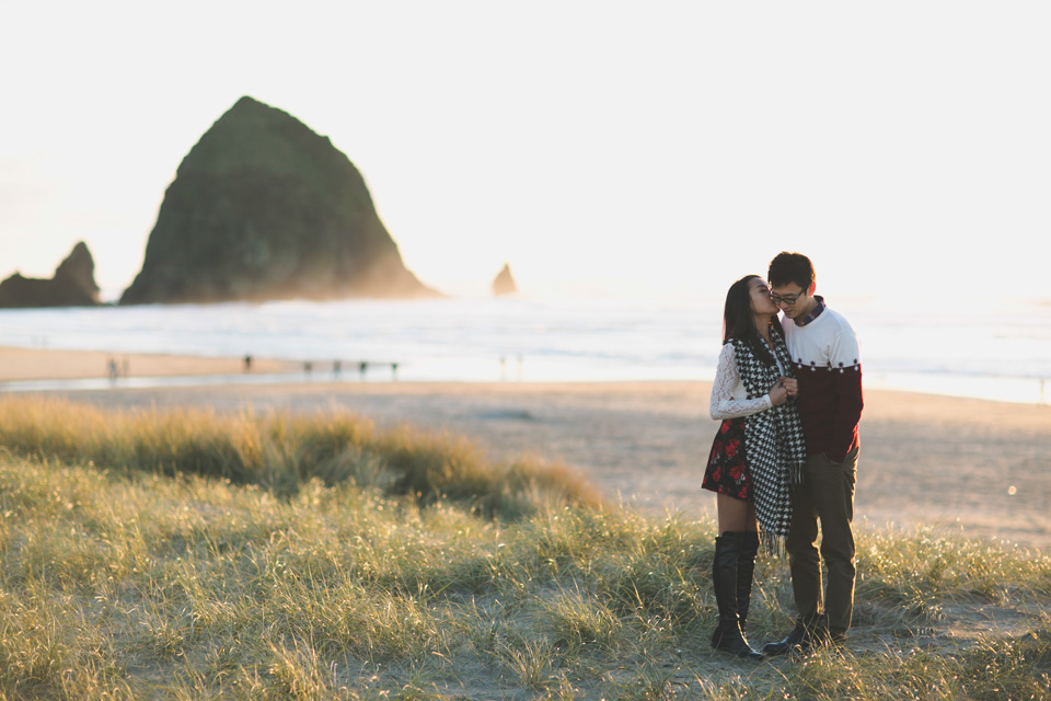
[[[770,288],[758,275],[730,286],[723,311],[723,350],[712,388],[712,418],[723,420],[701,486],[717,493],[718,537],[712,584],[719,622],[712,646],[762,659],[746,623],[759,529],[767,552],[781,550],[792,519],[789,497],[806,461],[794,402],[793,364]]]

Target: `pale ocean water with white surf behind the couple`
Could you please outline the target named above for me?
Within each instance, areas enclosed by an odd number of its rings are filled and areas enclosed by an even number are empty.
[[[711,380],[721,303],[505,297],[0,310],[0,345],[251,355],[311,363],[312,379],[328,374],[345,381]],[[924,311],[909,300],[845,298],[833,307],[858,335],[867,388],[1048,403],[1047,301]],[[288,381],[300,375],[227,379]],[[11,382],[0,390],[102,381]],[[219,379],[122,381],[145,387]]]

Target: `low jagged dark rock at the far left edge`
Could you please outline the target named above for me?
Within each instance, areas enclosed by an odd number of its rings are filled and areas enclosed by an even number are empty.
[[[15,273],[0,283],[0,307],[94,307],[99,304],[95,261],[80,241],[55,271],[55,277],[22,277]]]

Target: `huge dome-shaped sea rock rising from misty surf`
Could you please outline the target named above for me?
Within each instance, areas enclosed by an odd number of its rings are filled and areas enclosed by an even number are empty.
[[[183,159],[120,303],[435,296],[347,157],[242,97]]]

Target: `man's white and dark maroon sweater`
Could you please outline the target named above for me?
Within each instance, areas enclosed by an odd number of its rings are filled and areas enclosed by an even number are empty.
[[[857,336],[846,319],[828,307],[802,326],[785,319],[782,327],[796,363],[807,455],[823,452],[833,462],[843,462],[858,445],[864,405]]]

